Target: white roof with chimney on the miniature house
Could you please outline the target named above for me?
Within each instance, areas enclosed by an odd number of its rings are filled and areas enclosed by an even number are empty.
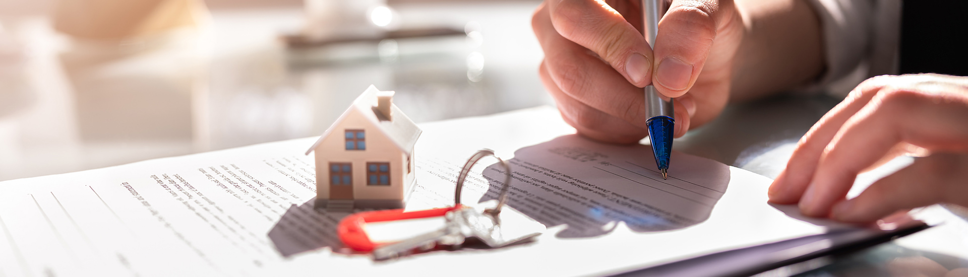
[[[382,114],[378,115],[376,109],[378,92],[377,87],[371,84],[363,94],[357,97],[356,100],[353,100],[353,104],[347,108],[347,111],[344,111],[343,115],[340,115],[340,118],[336,119],[336,122],[329,129],[326,129],[326,132],[322,136],[319,136],[316,143],[313,143],[313,146],[309,150],[306,150],[306,155],[312,153],[319,146],[319,143],[322,142],[322,139],[329,137],[334,132],[333,129],[354,109],[359,111],[370,123],[373,123],[383,135],[386,135],[393,143],[397,144],[397,147],[400,147],[401,150],[408,154],[412,154],[413,145],[416,144],[417,138],[420,138],[420,134],[423,131],[407,117],[407,114],[404,114],[400,108],[397,108],[396,105],[390,106],[393,120],[380,120]]]

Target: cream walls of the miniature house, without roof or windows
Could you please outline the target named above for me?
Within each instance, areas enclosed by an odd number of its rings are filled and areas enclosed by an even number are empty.
[[[335,123],[316,151],[317,199],[329,199],[329,163],[351,163],[353,167],[353,199],[355,200],[404,200],[405,184],[412,180],[405,176],[407,158],[396,144],[387,138],[358,109],[351,109],[342,121]],[[366,130],[366,150],[347,150],[346,129]],[[390,163],[390,186],[368,186],[366,163]]]

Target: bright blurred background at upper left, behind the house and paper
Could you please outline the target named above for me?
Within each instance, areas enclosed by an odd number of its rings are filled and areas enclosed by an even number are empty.
[[[550,105],[540,1],[0,0],[0,181]]]

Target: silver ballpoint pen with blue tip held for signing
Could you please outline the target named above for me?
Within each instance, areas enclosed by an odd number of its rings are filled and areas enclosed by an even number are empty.
[[[665,1],[642,0],[642,21],[645,29],[646,42],[655,46],[655,34],[659,31],[659,19],[665,14]],[[669,156],[672,154],[672,136],[676,128],[673,112],[673,99],[663,100],[655,86],[645,88],[646,95],[646,126],[649,127],[649,139],[652,143],[652,153],[655,154],[655,165],[662,171],[662,178],[668,178]]]

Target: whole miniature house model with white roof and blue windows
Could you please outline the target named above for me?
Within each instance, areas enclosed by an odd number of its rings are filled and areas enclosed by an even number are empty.
[[[316,151],[316,207],[404,206],[421,131],[392,99],[371,85],[306,151]]]

